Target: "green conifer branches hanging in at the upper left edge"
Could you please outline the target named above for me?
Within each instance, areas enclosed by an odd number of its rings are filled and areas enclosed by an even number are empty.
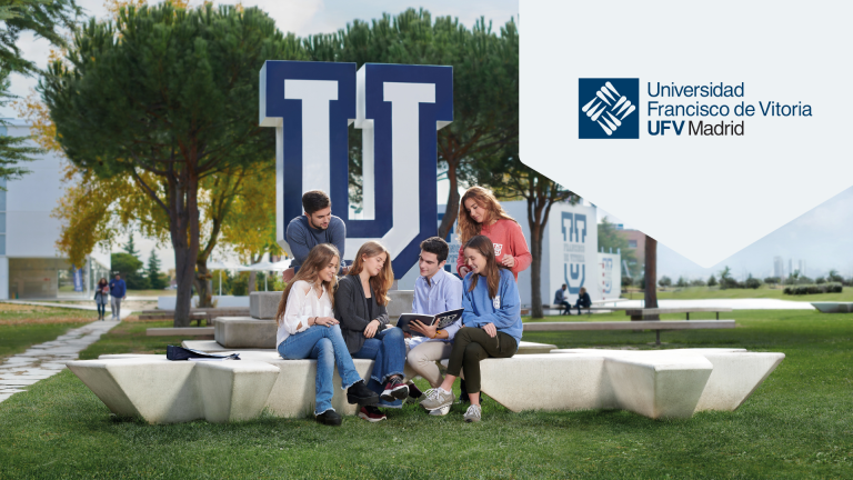
[[[13,98],[9,93],[9,76],[20,73],[32,76],[39,72],[32,60],[24,59],[18,48],[21,33],[29,32],[47,39],[54,46],[66,40],[59,32],[61,27],[72,28],[80,9],[74,0],[0,0],[0,107]],[[0,119],[0,127],[9,123]],[[41,149],[27,147],[28,137],[0,136],[0,179],[18,179],[29,173],[20,162],[32,161]]]

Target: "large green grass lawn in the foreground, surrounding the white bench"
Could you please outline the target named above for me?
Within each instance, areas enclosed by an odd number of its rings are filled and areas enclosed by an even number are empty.
[[[662,340],[664,348],[784,352],[780,368],[735,412],[656,421],[624,411],[513,413],[486,399],[478,424],[462,423],[461,406],[443,418],[407,406],[385,422],[347,418],[341,428],[272,417],[149,426],[112,418],[63,371],[0,403],[0,478],[851,478],[853,314],[735,311],[727,318],[739,327],[664,332]],[[118,332],[102,341],[123,351],[152,348],[134,338],[137,327],[128,327],[123,342]],[[654,334],[531,332],[524,339],[651,348]]]

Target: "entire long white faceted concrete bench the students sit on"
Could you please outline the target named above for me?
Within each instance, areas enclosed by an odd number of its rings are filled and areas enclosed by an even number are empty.
[[[483,360],[482,391],[512,411],[624,409],[689,418],[694,411],[736,409],[784,359],[737,349],[556,352]],[[264,409],[284,418],[313,413],[314,360],[283,360],[270,351],[241,357],[191,362],[108,354],[68,367],[113,413],[149,423],[241,421]],[[373,368],[372,360],[354,363],[362,378]],[[355,414],[358,406],[347,402],[337,372],[334,379],[332,406]]]

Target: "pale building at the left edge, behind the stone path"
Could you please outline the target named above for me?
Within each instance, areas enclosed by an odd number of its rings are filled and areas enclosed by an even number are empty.
[[[24,137],[30,124],[7,120],[0,134]],[[37,156],[24,163],[30,173],[0,186],[0,299],[56,298],[74,292],[74,271],[57,250],[60,223],[50,214],[62,194],[61,159],[54,153]],[[110,253],[87,258],[77,288],[92,291],[101,277],[109,278]],[[82,293],[81,293],[82,294]]]

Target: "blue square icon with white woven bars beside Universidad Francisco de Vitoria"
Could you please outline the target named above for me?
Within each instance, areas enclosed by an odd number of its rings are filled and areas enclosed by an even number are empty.
[[[640,79],[579,79],[578,137],[639,139]]]

